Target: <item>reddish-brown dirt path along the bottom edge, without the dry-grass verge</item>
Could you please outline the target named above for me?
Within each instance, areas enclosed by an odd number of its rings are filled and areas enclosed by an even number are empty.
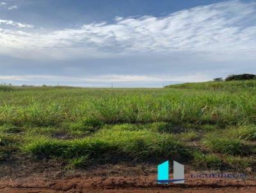
[[[45,180],[38,177],[0,180],[2,193],[83,193],[83,192],[256,192],[255,180],[187,180],[184,185],[159,185],[156,176],[73,177]]]

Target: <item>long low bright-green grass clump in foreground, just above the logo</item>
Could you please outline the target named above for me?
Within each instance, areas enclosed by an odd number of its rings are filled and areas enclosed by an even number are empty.
[[[24,151],[45,157],[90,158],[130,157],[146,158],[188,158],[189,150],[173,135],[157,134],[147,130],[100,130],[92,137],[60,141],[40,137],[24,146]]]

